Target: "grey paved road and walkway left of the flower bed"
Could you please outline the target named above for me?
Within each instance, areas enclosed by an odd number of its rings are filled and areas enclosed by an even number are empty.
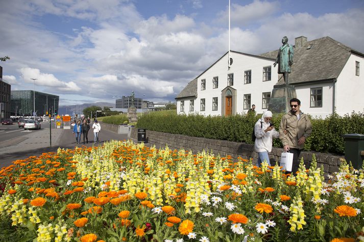
[[[56,152],[58,147],[73,149],[76,146],[83,145],[82,143],[81,145],[77,145],[75,135],[69,129],[55,129],[52,127],[51,132],[52,147],[50,147],[50,130],[48,127],[26,133],[26,135],[21,136],[26,139],[16,144],[12,144],[13,142],[10,140],[10,146],[0,146],[0,167],[9,166],[16,159],[25,159],[31,155],[41,155],[44,152]],[[3,140],[2,133],[0,132],[1,140]],[[94,145],[92,130],[89,131],[88,138],[89,143],[85,144],[85,146]],[[95,144],[95,146],[102,145],[105,141],[127,139],[127,135],[119,135],[118,133],[102,129],[99,136],[100,143]]]

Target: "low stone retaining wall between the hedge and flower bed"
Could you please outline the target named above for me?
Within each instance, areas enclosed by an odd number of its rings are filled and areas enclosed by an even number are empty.
[[[137,139],[136,128],[132,128],[131,138]],[[191,150],[194,153],[205,150],[216,155],[220,154],[221,156],[231,155],[235,159],[238,156],[244,159],[252,157],[254,162],[256,162],[258,158],[258,154],[254,151],[254,145],[225,140],[196,138],[147,130],[147,143],[155,145],[156,148],[162,148],[167,145],[170,149],[183,148],[185,150]],[[273,148],[272,152],[269,153],[272,165],[280,160],[282,151],[283,149],[281,148]],[[328,174],[338,171],[338,167],[341,164],[340,159],[344,158],[344,156],[337,156],[329,153],[302,151],[299,158],[301,159],[301,157],[303,157],[306,168],[309,167],[313,153],[316,155],[318,166],[324,167],[326,178]]]

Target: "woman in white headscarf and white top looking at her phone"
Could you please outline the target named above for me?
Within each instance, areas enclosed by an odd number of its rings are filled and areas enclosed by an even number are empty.
[[[255,143],[254,150],[258,153],[258,167],[260,164],[266,160],[269,162],[268,153],[272,151],[273,138],[278,138],[279,132],[274,129],[273,124],[271,125],[272,112],[266,111],[262,114],[261,118],[255,123],[254,133],[255,133]]]

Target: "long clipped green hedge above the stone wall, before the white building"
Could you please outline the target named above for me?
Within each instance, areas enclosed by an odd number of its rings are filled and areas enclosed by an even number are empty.
[[[172,110],[171,110],[172,111]],[[260,115],[203,116],[177,115],[172,112],[152,112],[139,118],[137,127],[159,132],[175,133],[191,137],[228,140],[253,144],[253,127]],[[282,114],[273,115],[276,129]],[[313,119],[312,134],[306,140],[305,150],[344,154],[346,133],[364,134],[364,113],[352,113],[344,117],[333,114],[326,119]],[[274,147],[282,147],[279,139],[273,141]]]

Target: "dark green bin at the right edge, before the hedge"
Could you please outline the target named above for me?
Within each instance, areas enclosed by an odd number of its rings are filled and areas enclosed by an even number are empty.
[[[350,133],[343,135],[345,140],[345,159],[355,169],[360,169],[364,159],[364,135]]]

